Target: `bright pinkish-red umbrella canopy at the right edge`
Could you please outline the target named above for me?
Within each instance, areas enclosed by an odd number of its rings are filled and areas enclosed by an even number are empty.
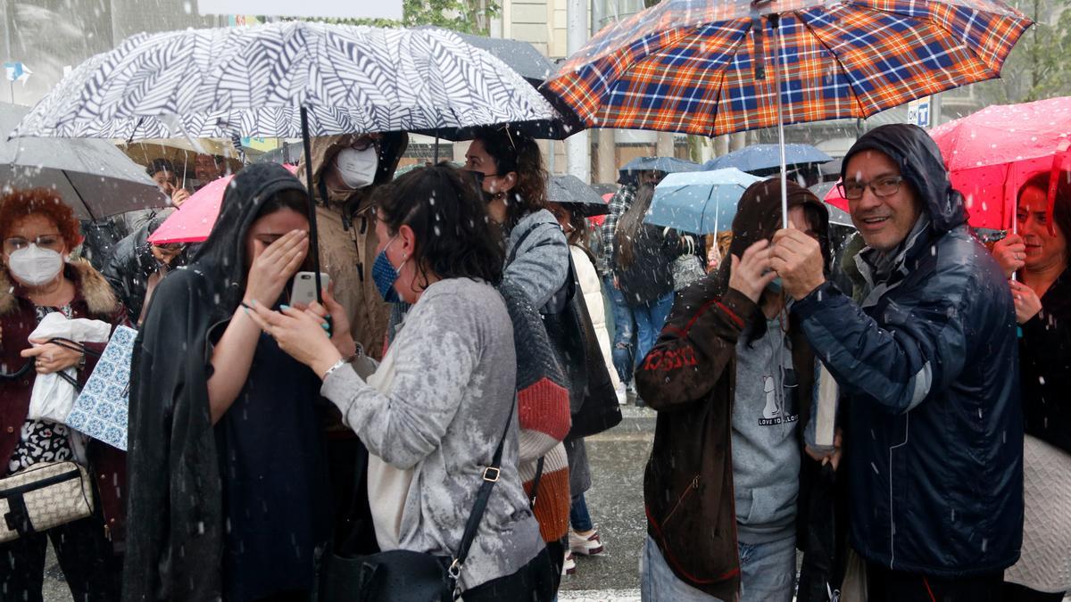
[[[1053,166],[1071,140],[1071,96],[995,105],[930,132],[963,193],[970,223],[1004,229],[1012,223],[1019,187]]]

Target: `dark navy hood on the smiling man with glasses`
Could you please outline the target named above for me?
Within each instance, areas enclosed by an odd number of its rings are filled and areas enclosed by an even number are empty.
[[[876,150],[900,165],[904,180],[911,185],[934,231],[944,234],[967,222],[963,195],[952,187],[937,142],[925,130],[906,123],[875,127],[856,140],[841,163],[841,180],[847,176],[848,161],[857,153]]]

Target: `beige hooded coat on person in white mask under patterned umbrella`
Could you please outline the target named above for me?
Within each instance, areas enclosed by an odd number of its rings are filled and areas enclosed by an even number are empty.
[[[408,145],[406,134],[388,134],[380,145],[379,171],[372,186],[350,193],[328,191],[329,206],[323,206],[320,179],[323,168],[342,149],[359,136],[325,136],[313,138],[313,181],[316,183],[316,225],[319,235],[320,269],[334,283],[335,299],[346,308],[353,340],[364,347],[365,353],[382,358],[383,337],[390,318],[391,305],[382,300],[372,280],[372,264],[376,258],[379,240],[373,223],[372,192],[379,184],[394,177],[398,159]],[[298,168],[304,180],[304,162]],[[352,214],[352,226],[347,230],[343,212]]]

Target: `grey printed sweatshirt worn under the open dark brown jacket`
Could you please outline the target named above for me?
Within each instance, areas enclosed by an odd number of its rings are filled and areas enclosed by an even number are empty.
[[[791,535],[799,494],[800,451],[791,350],[778,318],[766,335],[737,342],[733,403],[733,486],[739,540],[757,544]]]

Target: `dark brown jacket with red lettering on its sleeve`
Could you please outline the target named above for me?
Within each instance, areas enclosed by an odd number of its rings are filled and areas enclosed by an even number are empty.
[[[758,306],[713,272],[677,297],[654,347],[636,372],[659,412],[644,477],[648,535],[678,578],[722,600],[740,587],[733,491],[736,344]],[[813,366],[802,336],[795,365]],[[810,415],[813,370],[798,370],[801,421]],[[802,433],[802,425],[799,427]]]

